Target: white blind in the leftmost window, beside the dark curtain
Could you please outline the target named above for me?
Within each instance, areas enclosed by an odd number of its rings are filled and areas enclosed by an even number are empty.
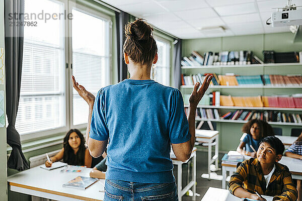
[[[50,0],[25,0],[24,12],[64,13]],[[24,49],[16,129],[23,135],[65,126],[64,19],[24,27]]]

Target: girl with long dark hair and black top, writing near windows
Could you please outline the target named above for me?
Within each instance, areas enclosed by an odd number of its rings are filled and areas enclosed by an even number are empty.
[[[45,162],[46,167],[50,167],[53,162],[63,159],[68,165],[85,165],[91,167],[92,156],[88,148],[85,147],[85,139],[81,131],[71,129],[67,132],[63,140],[63,148],[59,153]]]

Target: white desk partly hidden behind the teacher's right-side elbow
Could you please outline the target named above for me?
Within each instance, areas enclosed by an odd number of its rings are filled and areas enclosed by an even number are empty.
[[[193,196],[192,200],[196,200],[196,150],[197,148],[194,147],[192,150],[191,157],[186,161],[182,162],[177,160],[172,149],[171,149],[171,159],[174,165],[177,165],[177,193],[178,193],[178,200],[182,200],[182,196],[186,194],[186,192],[193,187]],[[182,164],[187,163],[191,158],[193,158],[193,180],[190,181],[186,186],[182,187]],[[189,168],[189,167],[188,167]]]

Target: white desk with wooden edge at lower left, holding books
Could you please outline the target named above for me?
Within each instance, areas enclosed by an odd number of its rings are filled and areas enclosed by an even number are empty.
[[[77,176],[89,177],[91,168],[86,168],[82,172],[61,173],[62,168],[46,170],[37,166],[9,176],[10,190],[63,201],[104,199],[105,179],[100,179],[85,190],[62,186],[63,183]]]

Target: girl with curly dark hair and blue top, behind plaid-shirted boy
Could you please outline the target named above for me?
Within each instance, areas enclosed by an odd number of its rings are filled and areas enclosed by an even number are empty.
[[[256,157],[256,152],[250,145],[257,151],[262,138],[274,133],[273,128],[267,122],[257,119],[250,120],[244,124],[242,131],[244,135],[240,139],[241,141],[236,151],[252,157]]]

